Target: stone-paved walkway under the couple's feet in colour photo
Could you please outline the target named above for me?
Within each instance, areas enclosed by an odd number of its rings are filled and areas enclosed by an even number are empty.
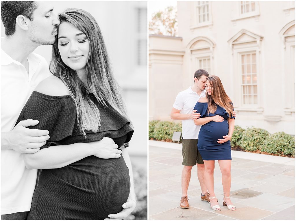
[[[181,199],[182,144],[149,140],[150,220],[295,220],[295,159],[231,151],[231,200],[223,207],[221,172],[216,161],[215,193],[221,211],[200,200],[197,167],[189,184],[189,209]]]

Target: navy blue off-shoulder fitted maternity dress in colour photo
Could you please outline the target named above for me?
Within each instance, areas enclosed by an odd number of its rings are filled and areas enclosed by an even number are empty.
[[[229,129],[227,119],[229,118],[229,114],[224,108],[218,105],[216,112],[213,114],[207,114],[207,109],[207,103],[197,102],[194,106],[194,110],[197,110],[197,112],[200,113],[200,118],[220,115],[224,118],[224,121],[210,121],[201,126],[198,134],[198,151],[202,155],[203,160],[231,160],[230,141],[223,144],[217,143],[218,139],[223,139],[223,136],[228,135]]]

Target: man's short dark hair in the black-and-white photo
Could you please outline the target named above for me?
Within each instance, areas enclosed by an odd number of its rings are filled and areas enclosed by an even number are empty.
[[[33,12],[37,9],[35,1],[1,1],[1,19],[5,27],[5,35],[15,33],[16,18],[23,15],[33,20]]]

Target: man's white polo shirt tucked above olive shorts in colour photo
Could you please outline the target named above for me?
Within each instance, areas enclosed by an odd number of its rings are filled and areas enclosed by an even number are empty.
[[[197,101],[205,97],[205,90],[203,90],[200,96],[194,92],[190,86],[187,90],[178,93],[173,108],[181,110],[180,113],[188,114],[192,113],[193,108]],[[198,113],[198,110],[197,110]],[[198,139],[198,133],[200,132],[201,125],[196,126],[192,119],[182,120],[182,138],[183,139]]]

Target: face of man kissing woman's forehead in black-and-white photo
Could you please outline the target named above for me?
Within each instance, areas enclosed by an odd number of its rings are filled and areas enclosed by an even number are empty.
[[[33,20],[30,22],[29,38],[40,45],[52,45],[57,35],[59,20],[53,12],[54,7],[50,2],[36,1],[37,9],[33,12]]]

